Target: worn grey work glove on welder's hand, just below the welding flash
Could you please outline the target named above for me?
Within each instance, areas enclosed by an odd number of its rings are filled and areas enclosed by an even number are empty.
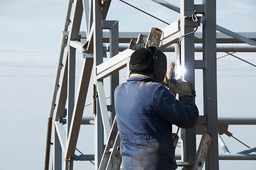
[[[193,85],[188,81],[184,81],[182,79],[177,80],[177,84],[175,86],[175,91],[179,94],[179,98],[182,96],[190,96],[195,97],[195,91],[193,91]]]

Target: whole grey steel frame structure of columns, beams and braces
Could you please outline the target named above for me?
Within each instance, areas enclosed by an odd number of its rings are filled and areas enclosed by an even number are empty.
[[[180,13],[180,21],[174,22],[162,28],[163,36],[160,49],[163,51],[174,51],[180,58],[183,67],[189,72],[184,75],[192,84],[194,80],[194,70],[203,70],[204,84],[204,115],[199,118],[198,126],[211,134],[212,140],[206,158],[207,170],[217,170],[219,159],[256,159],[255,155],[233,154],[230,157],[219,156],[218,154],[218,123],[232,124],[235,120],[220,119],[217,114],[217,82],[216,82],[216,52],[218,49],[241,51],[256,51],[256,36],[245,37],[233,33],[226,28],[216,25],[216,1],[203,1],[202,4],[194,4],[194,1],[181,0],[180,8],[162,0],[152,0],[162,6]],[[62,32],[62,44],[60,47],[60,60],[58,63],[57,77],[53,91],[52,104],[48,118],[48,135],[45,150],[45,170],[49,169],[50,148],[52,148],[52,169],[73,169],[74,160],[94,160],[95,169],[99,164],[104,152],[104,140],[111,135],[111,125],[115,117],[113,107],[113,90],[119,84],[118,71],[126,67],[133,50],[128,49],[121,43],[128,43],[131,39],[136,39],[139,33],[119,33],[118,21],[106,21],[108,8],[111,0],[89,1],[74,0],[69,1],[65,27]],[[191,21],[191,16],[196,11],[200,13],[204,20],[202,23],[202,33],[194,34],[195,23]],[[86,22],[87,32],[80,32],[82,17]],[[108,30],[108,33],[103,32]],[[216,30],[221,33],[216,34]],[[184,36],[180,45],[173,45],[181,35]],[[142,33],[148,34],[148,33]],[[219,35],[221,34],[221,35]],[[225,36],[223,36],[223,34]],[[218,35],[218,36],[217,36]],[[227,36],[228,35],[228,36]],[[196,36],[196,39],[194,37]],[[103,43],[109,43],[109,53],[111,58],[103,62]],[[237,43],[248,44],[245,47],[217,47],[216,43]],[[195,46],[201,43],[201,46]],[[254,46],[251,46],[254,45]],[[75,69],[77,50],[84,58],[82,73],[77,89],[75,88]],[[202,60],[194,60],[194,52],[199,50],[203,53]],[[78,57],[80,57],[78,56]],[[103,80],[111,77],[111,104],[106,104]],[[90,79],[94,79],[92,96],[92,110],[94,118],[83,118],[84,104],[89,91]],[[75,92],[77,91],[77,94]],[[111,113],[109,115],[109,113]],[[65,119],[66,118],[66,119]],[[66,123],[67,120],[67,123]],[[236,120],[239,122],[239,120]],[[228,123],[227,123],[228,122]],[[95,152],[88,155],[75,155],[80,126],[83,124],[94,124]],[[244,120],[247,124],[247,121]],[[250,120],[252,125],[256,125],[256,120]],[[53,128],[52,128],[53,127]],[[192,128],[182,130],[183,140],[183,161],[194,160],[196,155],[196,134],[198,130]],[[53,138],[53,140],[52,140]],[[250,152],[247,152],[250,153]],[[191,169],[184,167],[184,169]]]

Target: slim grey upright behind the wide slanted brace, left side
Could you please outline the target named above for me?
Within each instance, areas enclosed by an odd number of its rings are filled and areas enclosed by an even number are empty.
[[[67,74],[67,137],[69,135],[69,129],[74,111],[75,64],[76,49],[74,47],[69,47]],[[66,169],[72,170],[73,162],[65,162],[65,166]]]

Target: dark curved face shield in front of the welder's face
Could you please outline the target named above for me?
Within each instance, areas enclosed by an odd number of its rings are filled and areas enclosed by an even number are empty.
[[[162,82],[165,79],[167,70],[167,57],[164,52],[157,49],[155,46],[148,47],[153,58],[155,78]]]

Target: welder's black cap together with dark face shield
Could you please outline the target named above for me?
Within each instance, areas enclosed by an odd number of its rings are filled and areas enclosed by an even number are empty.
[[[130,56],[130,73],[148,74],[155,73],[155,78],[162,82],[165,78],[167,69],[166,55],[151,46],[147,48],[139,48]]]

